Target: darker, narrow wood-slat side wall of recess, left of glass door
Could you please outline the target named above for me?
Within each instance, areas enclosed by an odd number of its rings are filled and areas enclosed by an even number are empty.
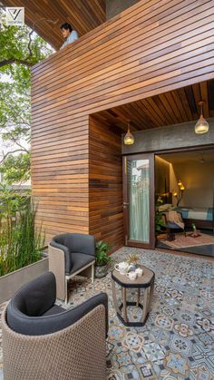
[[[89,231],[116,249],[123,244],[122,138],[98,119],[89,125]]]

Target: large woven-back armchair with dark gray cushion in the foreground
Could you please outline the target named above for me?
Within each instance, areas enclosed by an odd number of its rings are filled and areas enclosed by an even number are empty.
[[[21,287],[3,312],[5,380],[104,380],[108,298],[70,310],[54,305],[56,284],[45,272]]]

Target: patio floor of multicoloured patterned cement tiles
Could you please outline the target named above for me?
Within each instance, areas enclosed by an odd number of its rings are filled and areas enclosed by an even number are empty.
[[[80,277],[71,283],[67,307],[74,307],[100,291],[109,296],[107,379],[213,380],[213,262],[121,248],[112,255],[112,268],[132,252],[138,253],[141,264],[151,268],[156,276],[151,313],[145,326],[125,327],[116,317],[111,273],[96,279],[93,285]],[[136,309],[131,308],[130,313],[132,318],[138,318]],[[0,351],[0,379],[2,366]]]

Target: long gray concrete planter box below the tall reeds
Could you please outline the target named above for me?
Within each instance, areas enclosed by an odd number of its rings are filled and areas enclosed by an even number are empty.
[[[48,270],[48,258],[44,257],[34,264],[0,277],[0,304],[10,299],[19,287],[42,275],[46,270]]]

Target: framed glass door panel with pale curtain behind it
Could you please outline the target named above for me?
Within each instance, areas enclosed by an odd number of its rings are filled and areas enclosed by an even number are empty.
[[[123,157],[125,244],[154,248],[154,155]]]

